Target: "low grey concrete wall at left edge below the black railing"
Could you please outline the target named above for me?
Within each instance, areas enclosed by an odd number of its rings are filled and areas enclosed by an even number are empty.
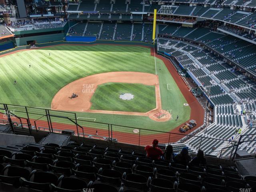
[[[35,143],[35,139],[33,136],[0,133],[0,146],[2,147],[23,143]]]

